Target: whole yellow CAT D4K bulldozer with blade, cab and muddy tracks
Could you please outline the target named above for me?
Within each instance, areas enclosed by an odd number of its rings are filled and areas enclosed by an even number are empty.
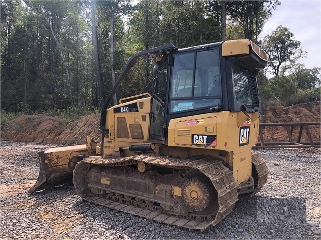
[[[156,59],[150,83],[110,107],[146,55]],[[261,111],[256,75],[267,61],[247,39],[133,55],[102,107],[101,141],[39,152],[29,192],[73,179],[95,204],[188,229],[216,225],[267,181],[265,161],[251,151]]]

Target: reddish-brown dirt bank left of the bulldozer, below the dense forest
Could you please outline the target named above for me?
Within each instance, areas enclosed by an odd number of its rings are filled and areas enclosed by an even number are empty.
[[[55,114],[21,116],[1,129],[1,139],[14,142],[77,145],[86,143],[86,136],[99,137],[100,114],[80,117],[61,126]]]

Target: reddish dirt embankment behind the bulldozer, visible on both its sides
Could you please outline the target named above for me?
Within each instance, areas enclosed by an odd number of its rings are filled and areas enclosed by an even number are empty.
[[[100,114],[80,117],[66,126],[61,126],[58,116],[40,114],[13,119],[1,129],[1,139],[16,142],[75,145],[86,143],[86,136],[101,136],[98,131]],[[320,122],[320,102],[297,104],[290,107],[273,106],[263,111],[261,122]],[[320,140],[320,126],[310,127],[314,140]],[[299,127],[293,130],[297,139]],[[288,141],[284,127],[269,127],[263,130],[264,141]],[[303,130],[301,141],[307,141]]]

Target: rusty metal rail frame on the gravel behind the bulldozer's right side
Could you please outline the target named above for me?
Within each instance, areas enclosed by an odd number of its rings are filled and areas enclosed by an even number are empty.
[[[319,126],[320,122],[301,122],[301,123],[260,123],[259,137],[260,141],[253,146],[253,148],[304,148],[304,147],[320,147],[320,140],[313,139],[309,126]],[[299,134],[297,139],[293,139],[293,130],[296,126],[299,126]],[[288,142],[266,142],[264,141],[262,130],[267,127],[283,127],[288,135]],[[303,129],[306,130],[308,142],[301,141]],[[320,128],[318,128],[320,134]]]

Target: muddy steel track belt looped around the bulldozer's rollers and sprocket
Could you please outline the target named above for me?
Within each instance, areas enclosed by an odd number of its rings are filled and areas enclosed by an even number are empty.
[[[264,161],[264,160],[263,160]],[[197,169],[206,175],[218,194],[219,209],[207,216],[197,214],[173,215],[163,212],[162,207],[152,204],[146,204],[129,198],[118,197],[117,195],[97,195],[90,192],[86,175],[91,166],[101,167],[119,167],[138,164],[144,162],[151,165],[162,166],[176,169]],[[257,161],[257,166],[265,164]],[[260,165],[261,163],[261,165]],[[261,168],[261,167],[260,167]],[[262,169],[264,167],[262,166]],[[259,171],[262,172],[262,171]],[[261,185],[263,180],[260,181]],[[79,162],[74,171],[74,185],[77,193],[82,199],[98,205],[106,206],[115,210],[152,219],[157,222],[185,227],[188,229],[199,229],[201,231],[210,225],[218,224],[233,209],[238,200],[237,183],[233,178],[232,172],[226,168],[221,161],[213,160],[213,158],[202,158],[195,160],[164,157],[156,154],[137,155],[133,157],[115,158],[115,157],[89,157]]]

